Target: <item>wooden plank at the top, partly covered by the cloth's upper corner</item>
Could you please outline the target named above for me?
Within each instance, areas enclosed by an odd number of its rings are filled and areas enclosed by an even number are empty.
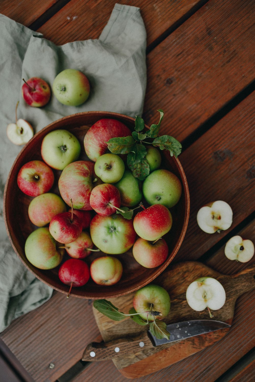
[[[97,39],[109,20],[115,3],[115,0],[97,2],[71,0],[38,31],[57,45],[75,40]],[[141,16],[147,31],[147,42],[148,45],[151,45],[205,1],[120,0],[117,3],[141,9]]]

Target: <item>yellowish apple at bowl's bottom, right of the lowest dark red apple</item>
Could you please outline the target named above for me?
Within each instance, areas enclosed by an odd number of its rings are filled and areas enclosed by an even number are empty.
[[[98,285],[114,285],[122,276],[123,267],[119,259],[102,256],[94,259],[90,265],[90,275]]]

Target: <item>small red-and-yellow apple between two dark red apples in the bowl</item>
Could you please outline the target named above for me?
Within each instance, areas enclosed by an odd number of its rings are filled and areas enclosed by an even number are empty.
[[[74,259],[83,259],[91,254],[93,246],[89,233],[82,231],[75,241],[65,244],[65,250]]]

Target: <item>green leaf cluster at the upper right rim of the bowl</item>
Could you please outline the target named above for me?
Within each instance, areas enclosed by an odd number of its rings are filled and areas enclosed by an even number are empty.
[[[182,145],[177,139],[170,135],[158,135],[164,117],[162,109],[159,109],[158,112],[160,113],[159,122],[151,125],[149,130],[142,132],[145,129],[145,122],[143,118],[136,116],[132,135],[111,138],[106,142],[109,151],[113,154],[127,154],[128,168],[132,171],[133,176],[139,180],[145,180],[146,176],[149,175],[145,144],[152,144],[161,150],[168,150],[171,156],[174,155],[176,158],[182,151]],[[145,141],[147,138],[150,141]]]

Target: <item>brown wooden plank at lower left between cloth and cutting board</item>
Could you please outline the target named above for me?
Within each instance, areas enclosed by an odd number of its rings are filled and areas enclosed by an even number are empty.
[[[55,382],[80,361],[84,344],[99,335],[91,304],[54,292],[46,304],[13,321],[0,338],[36,382]]]

